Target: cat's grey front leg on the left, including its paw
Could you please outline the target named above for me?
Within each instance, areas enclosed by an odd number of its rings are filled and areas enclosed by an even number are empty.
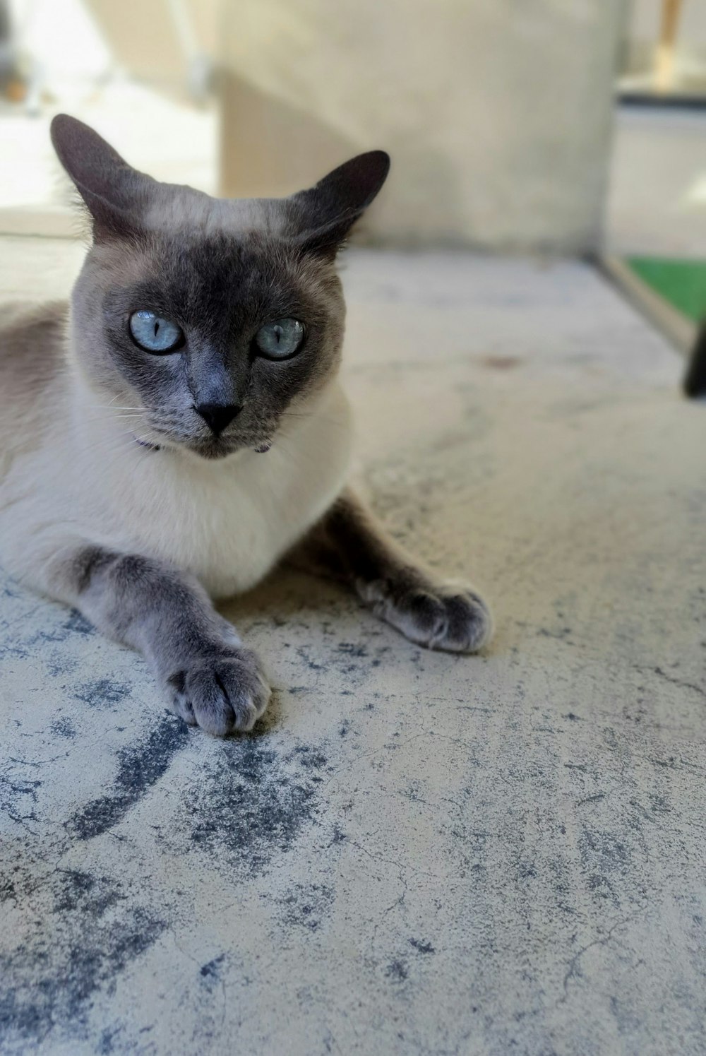
[[[269,700],[257,656],[245,648],[197,581],[166,563],[89,543],[54,552],[46,592],[111,638],[139,649],[172,710],[225,736],[250,730]]]

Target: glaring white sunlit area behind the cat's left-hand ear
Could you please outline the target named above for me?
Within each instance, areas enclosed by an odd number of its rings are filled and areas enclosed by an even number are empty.
[[[13,101],[0,102],[0,231],[76,231],[72,191],[49,137],[61,111],[157,178],[215,189],[215,110],[190,101],[186,73],[164,89],[137,83],[81,0],[14,0],[11,13],[18,82],[6,93]]]

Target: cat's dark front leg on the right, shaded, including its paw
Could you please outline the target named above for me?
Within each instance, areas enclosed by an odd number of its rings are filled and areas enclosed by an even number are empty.
[[[377,616],[419,645],[475,653],[493,634],[477,591],[421,568],[346,490],[292,554],[294,564],[348,582]]]

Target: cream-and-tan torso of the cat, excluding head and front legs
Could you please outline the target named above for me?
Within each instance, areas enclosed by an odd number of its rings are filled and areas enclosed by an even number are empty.
[[[346,483],[351,419],[339,383],[285,418],[266,454],[243,449],[206,460],[155,451],[134,441],[126,413],[96,410],[95,396],[68,372],[66,316],[65,305],[42,306],[0,332],[0,392],[15,397],[0,420],[7,570],[41,588],[57,542],[78,536],[183,568],[214,599],[254,586]],[[23,357],[32,386],[14,381]]]

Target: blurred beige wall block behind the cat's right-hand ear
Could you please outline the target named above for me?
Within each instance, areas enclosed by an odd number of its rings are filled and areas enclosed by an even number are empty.
[[[287,193],[371,147],[397,244],[599,240],[621,0],[238,0],[223,12],[229,194]]]

